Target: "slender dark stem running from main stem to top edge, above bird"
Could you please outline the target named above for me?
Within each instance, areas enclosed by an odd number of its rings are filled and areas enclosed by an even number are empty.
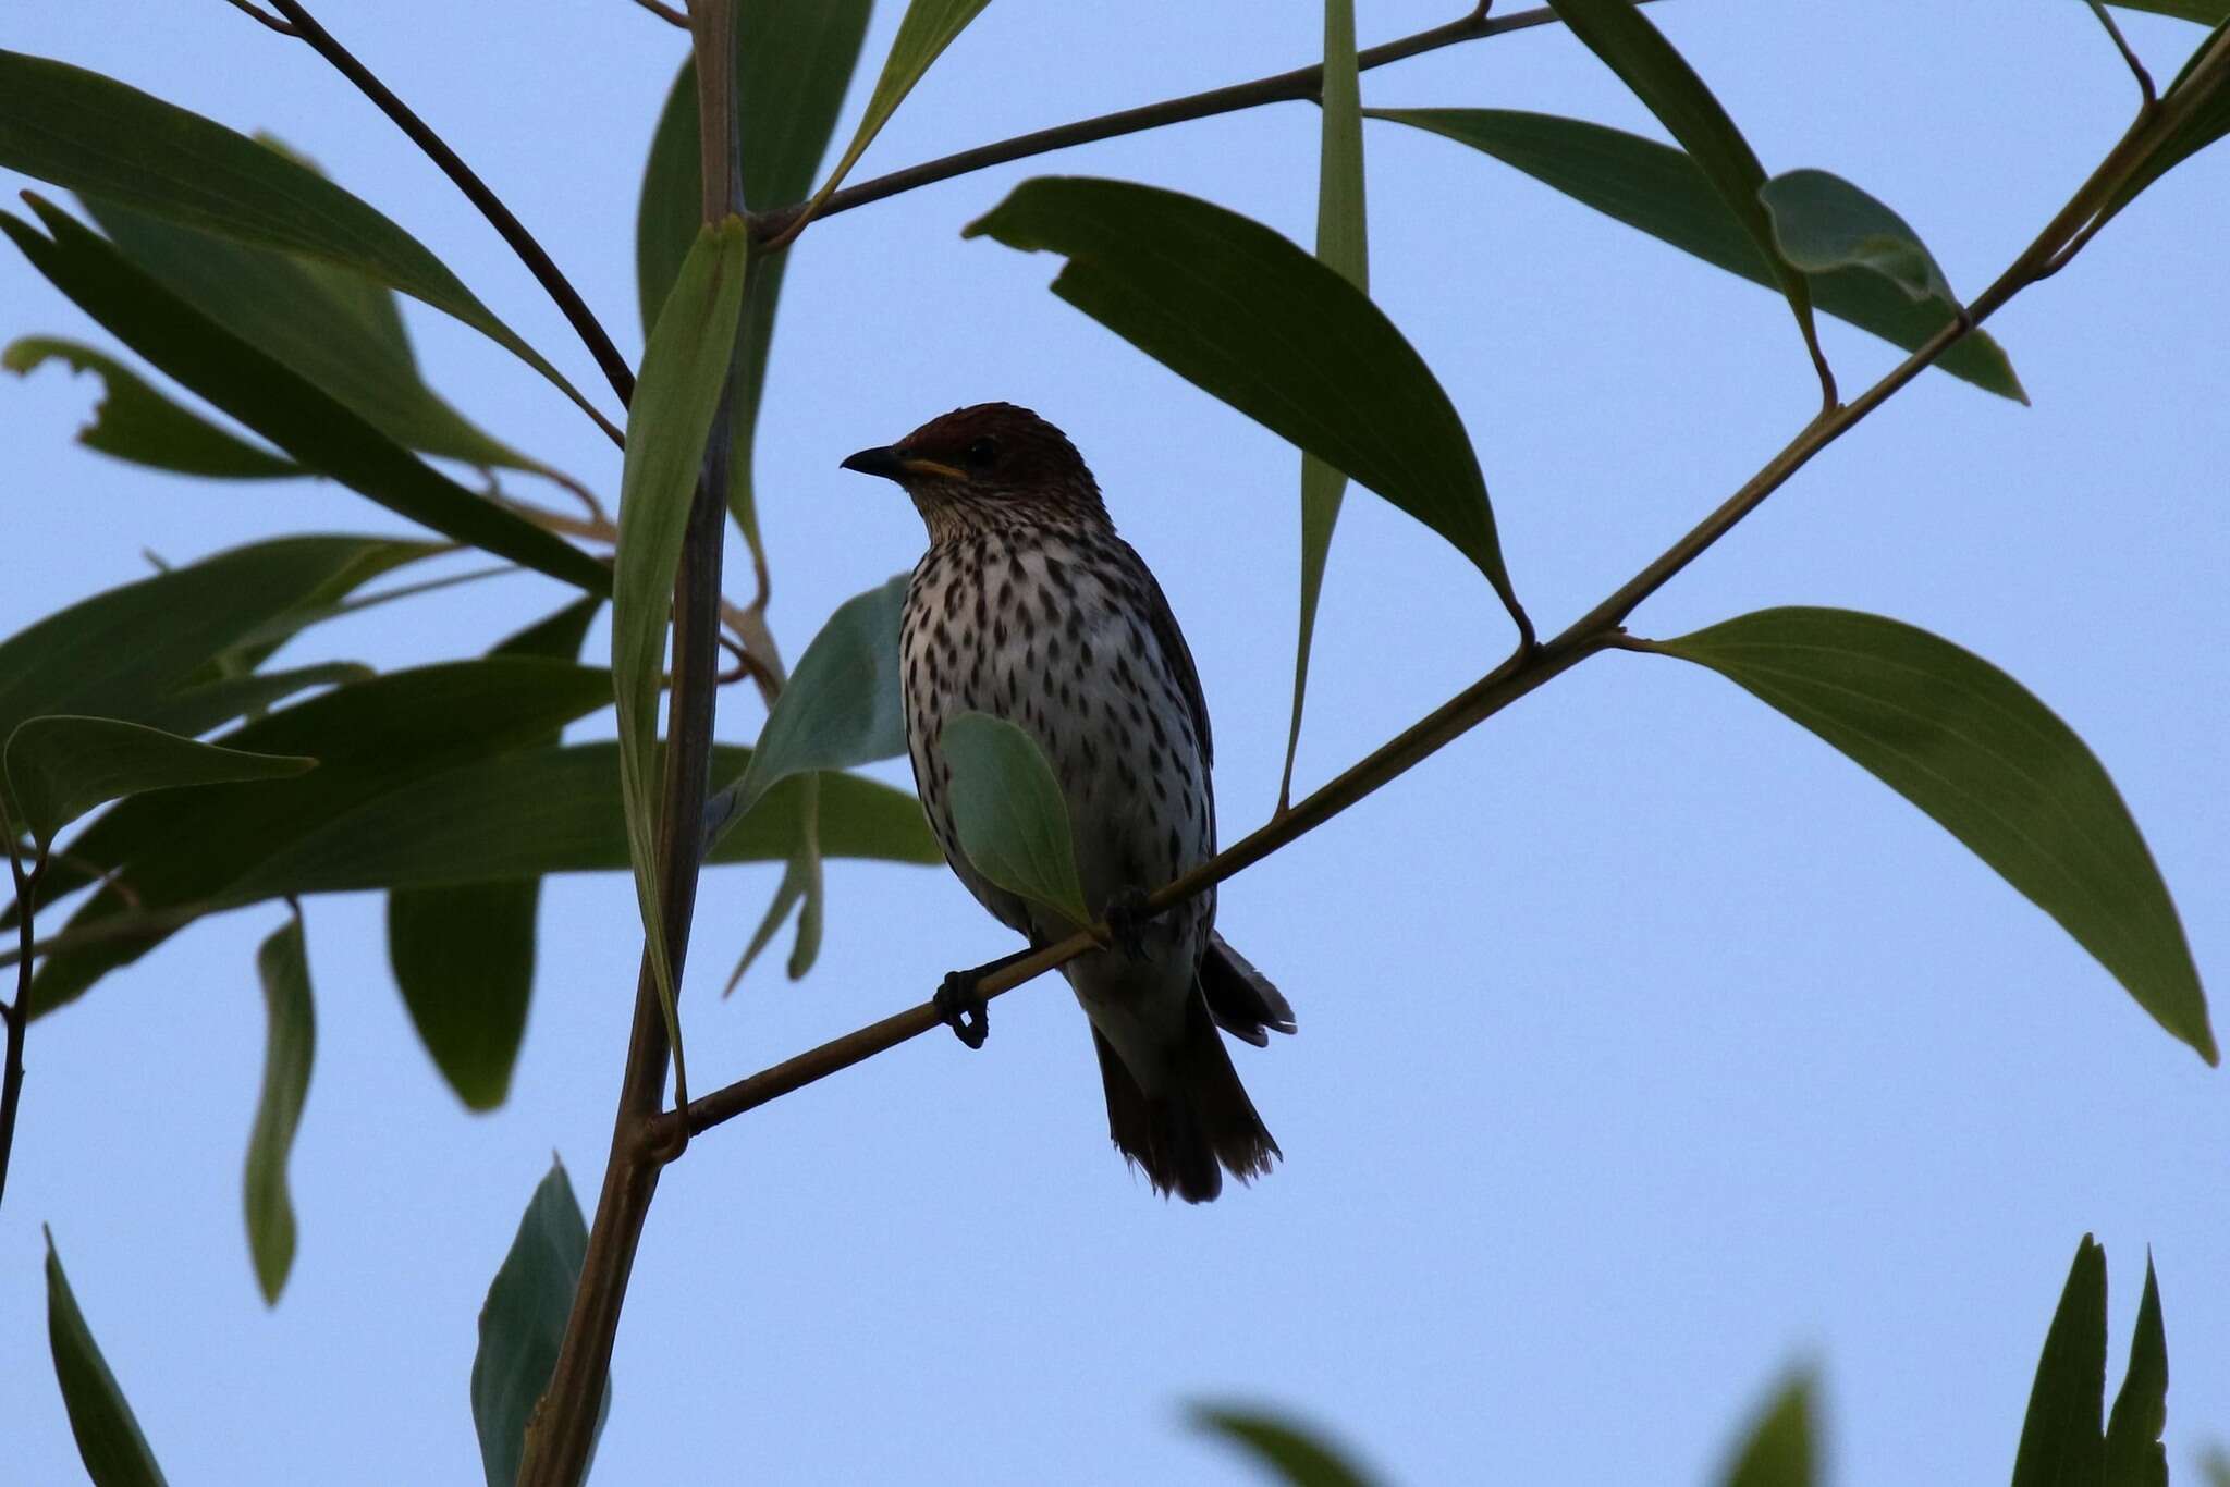
[[[1398,40],[1365,47],[1356,54],[1356,67],[1369,71],[1371,67],[1385,67],[1387,62],[1400,62],[1412,56],[1423,56],[1427,51],[1438,51],[1441,47],[1454,47],[1456,42],[1481,40],[1485,36],[1503,36],[1505,31],[1525,31],[1532,27],[1545,27],[1557,20],[1557,11],[1534,7],[1530,11],[1516,11],[1514,16],[1490,18],[1483,7],[1461,20],[1450,20],[1438,27],[1427,27],[1412,36]],[[961,149],[959,154],[948,154],[939,161],[923,161],[921,165],[910,165],[905,169],[890,172],[888,176],[876,176],[872,181],[861,181],[859,185],[847,185],[841,192],[832,192],[827,201],[814,210],[814,221],[823,216],[834,216],[838,212],[850,212],[852,207],[865,207],[870,201],[883,201],[885,196],[899,196],[901,192],[912,192],[921,185],[934,185],[939,181],[950,181],[952,176],[966,176],[977,169],[988,169],[992,165],[1006,165],[1010,161],[1026,161],[1035,154],[1050,154],[1055,149],[1068,149],[1070,145],[1090,145],[1095,140],[1111,140],[1124,134],[1137,134],[1142,129],[1160,129],[1164,125],[1182,125],[1193,118],[1213,118],[1215,114],[1235,114],[1238,109],[1253,109],[1264,103],[1298,103],[1305,98],[1316,98],[1325,87],[1325,67],[1296,67],[1293,71],[1280,71],[1269,78],[1255,78],[1253,82],[1233,82],[1229,87],[1211,87],[1204,94],[1189,94],[1184,98],[1164,98],[1162,103],[1148,103],[1135,109],[1119,109],[1115,114],[1102,114],[1097,118],[1079,118],[1077,123],[1055,125],[1053,129],[1037,129],[1032,134],[1017,134],[1010,140],[997,140],[990,145],[977,145],[975,149]],[[774,207],[772,212],[760,212],[752,218],[752,236],[760,243],[787,241],[796,236],[798,214],[805,203],[789,207]]]

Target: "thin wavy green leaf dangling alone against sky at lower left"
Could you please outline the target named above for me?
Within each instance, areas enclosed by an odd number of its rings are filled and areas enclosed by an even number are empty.
[[[317,1008],[310,1003],[310,950],[301,936],[301,914],[290,914],[256,950],[263,981],[263,1092],[256,1124],[248,1135],[248,1253],[256,1262],[263,1304],[277,1306],[294,1269],[294,1199],[285,1164],[301,1126],[301,1101],[310,1092],[310,1059],[317,1054]]]

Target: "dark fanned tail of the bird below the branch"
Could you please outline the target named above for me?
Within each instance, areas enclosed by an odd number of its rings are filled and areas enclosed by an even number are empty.
[[[1247,1099],[1200,990],[1186,1008],[1184,1032],[1169,1050],[1171,1079],[1162,1097],[1151,1099],[1140,1088],[1097,1030],[1093,1046],[1108,1095],[1108,1135],[1124,1157],[1146,1170],[1155,1193],[1204,1204],[1224,1190],[1224,1170],[1247,1182],[1284,1157]]]

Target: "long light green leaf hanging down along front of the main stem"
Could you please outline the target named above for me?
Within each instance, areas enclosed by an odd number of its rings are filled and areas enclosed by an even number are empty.
[[[651,970],[673,1014],[673,961],[658,903],[658,682],[667,613],[682,553],[689,499],[720,406],[743,308],[745,227],[727,218],[698,232],[673,294],[642,352],[642,381],[629,415],[620,473],[620,546],[611,584],[611,684],[620,702],[620,798],[636,863],[636,903]]]

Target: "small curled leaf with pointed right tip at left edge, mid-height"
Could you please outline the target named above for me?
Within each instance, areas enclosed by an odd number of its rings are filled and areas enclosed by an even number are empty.
[[[147,789],[277,780],[314,758],[241,754],[116,718],[27,718],[7,738],[7,787],[16,820],[45,849],[71,820]]]

